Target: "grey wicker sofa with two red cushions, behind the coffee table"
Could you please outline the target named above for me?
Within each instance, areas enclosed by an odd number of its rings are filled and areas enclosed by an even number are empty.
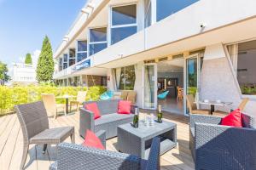
[[[87,129],[95,133],[105,130],[106,138],[113,138],[117,136],[117,127],[119,125],[133,120],[133,114],[117,114],[119,99],[84,102],[84,105],[93,102],[96,102],[102,117],[94,120],[94,115],[91,111],[85,110],[84,107],[80,109],[79,134],[83,138]],[[131,105],[131,113],[134,113],[136,107],[136,105]]]

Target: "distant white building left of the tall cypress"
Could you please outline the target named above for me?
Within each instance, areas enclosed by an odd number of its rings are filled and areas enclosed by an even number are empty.
[[[22,84],[30,84],[38,82],[36,77],[36,68],[33,65],[26,65],[23,63],[13,64],[13,74],[11,82],[18,82]]]

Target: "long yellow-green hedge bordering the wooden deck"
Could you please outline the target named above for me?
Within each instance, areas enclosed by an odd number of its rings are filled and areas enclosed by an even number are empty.
[[[54,86],[0,86],[0,116],[14,111],[15,105],[26,104],[41,100],[41,94],[55,94],[62,96],[64,94],[76,96],[78,91],[88,90],[87,100],[98,100],[100,95],[106,91],[106,88],[94,86],[88,88],[82,87],[54,87]],[[65,99],[56,99],[57,103],[65,103]]]

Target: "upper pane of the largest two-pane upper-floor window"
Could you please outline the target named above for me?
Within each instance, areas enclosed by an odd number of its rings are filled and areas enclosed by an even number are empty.
[[[112,8],[112,26],[137,23],[136,5]]]

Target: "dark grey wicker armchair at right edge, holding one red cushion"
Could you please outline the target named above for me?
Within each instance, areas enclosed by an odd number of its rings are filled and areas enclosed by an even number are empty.
[[[219,125],[221,117],[190,115],[189,147],[195,169],[256,169],[253,116],[242,114],[242,128]]]

